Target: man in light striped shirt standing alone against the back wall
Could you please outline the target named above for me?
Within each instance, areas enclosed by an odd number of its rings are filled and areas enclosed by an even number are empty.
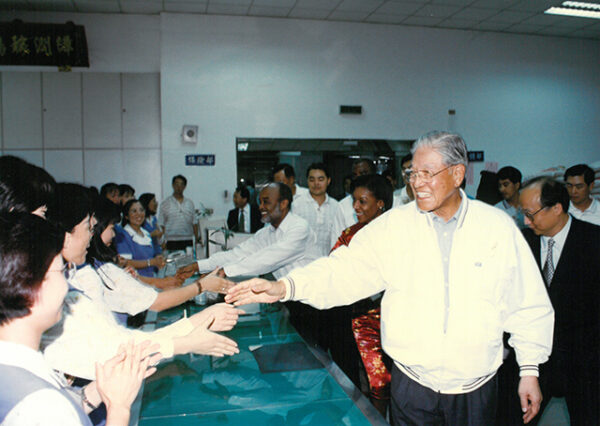
[[[185,176],[173,176],[171,185],[173,195],[160,203],[158,223],[164,233],[166,249],[185,250],[198,241],[196,208],[192,200],[183,196],[187,186]]]

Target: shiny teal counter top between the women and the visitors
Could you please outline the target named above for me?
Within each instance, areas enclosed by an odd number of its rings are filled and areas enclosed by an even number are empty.
[[[189,317],[204,308],[188,303],[159,312],[151,325],[167,325],[184,311]],[[277,304],[261,305],[247,320],[221,333],[237,342],[236,355],[179,355],[163,361],[145,381],[138,424],[385,424],[343,373],[333,372],[339,368],[312,348],[320,361],[315,369],[261,372],[251,349],[305,343]]]

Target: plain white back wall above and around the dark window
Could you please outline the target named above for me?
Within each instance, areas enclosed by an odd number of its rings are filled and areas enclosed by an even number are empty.
[[[92,71],[159,66],[163,193],[183,173],[186,195],[221,214],[236,182],[236,137],[411,139],[450,129],[486,161],[524,174],[600,159],[597,41],[203,15],[69,19],[86,25]],[[341,117],[340,104],[364,114]],[[181,144],[183,124],[199,126],[197,147]],[[215,154],[216,166],[185,167],[186,153]]]

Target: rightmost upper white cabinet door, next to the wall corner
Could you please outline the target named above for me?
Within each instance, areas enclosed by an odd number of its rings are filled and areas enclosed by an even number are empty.
[[[160,148],[158,74],[123,74],[123,147]]]

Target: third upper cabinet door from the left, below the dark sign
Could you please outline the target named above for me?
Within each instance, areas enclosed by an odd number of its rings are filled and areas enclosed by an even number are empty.
[[[122,148],[121,76],[84,73],[83,141],[85,148]]]

